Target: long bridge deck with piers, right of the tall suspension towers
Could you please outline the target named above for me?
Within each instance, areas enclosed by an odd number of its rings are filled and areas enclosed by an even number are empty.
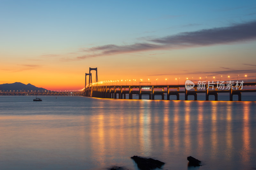
[[[227,88],[228,84],[224,84]],[[244,86],[255,86],[256,82],[243,83]],[[129,99],[132,99],[132,94],[138,94],[139,99],[142,95],[148,95],[149,100],[154,100],[155,95],[161,95],[162,100],[164,100],[164,94],[167,95],[167,100],[170,100],[170,95],[176,95],[177,100],[180,100],[180,93],[185,93],[185,100],[188,100],[189,95],[194,96],[194,100],[197,100],[197,93],[205,93],[205,100],[209,100],[210,95],[214,95],[215,100],[218,100],[218,93],[229,93],[229,100],[233,101],[233,95],[238,95],[238,100],[242,100],[243,92],[256,92],[256,89],[241,89],[237,90],[234,85],[229,90],[220,90],[220,84],[208,84],[205,88],[197,90],[197,87],[202,87],[196,84],[193,89],[187,90],[185,85],[91,85],[84,90],[84,96],[96,97],[96,98],[110,98],[117,99],[117,94],[119,99],[125,99],[126,95],[129,94]],[[180,90],[182,88],[182,90]],[[149,90],[150,89],[150,90]],[[160,90],[161,89],[161,90]],[[165,90],[166,89],[166,90]],[[171,89],[171,90],[170,90]],[[183,90],[184,89],[184,90]]]

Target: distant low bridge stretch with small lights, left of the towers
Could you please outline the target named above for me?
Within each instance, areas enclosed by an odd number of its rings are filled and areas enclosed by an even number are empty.
[[[0,92],[0,96],[82,96],[83,92]]]

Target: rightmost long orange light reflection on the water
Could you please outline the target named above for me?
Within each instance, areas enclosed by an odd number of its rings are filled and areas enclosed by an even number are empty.
[[[249,102],[244,102],[244,114],[243,114],[243,148],[242,148],[242,158],[244,162],[250,161],[250,125],[249,125],[249,117],[250,117],[250,107]]]

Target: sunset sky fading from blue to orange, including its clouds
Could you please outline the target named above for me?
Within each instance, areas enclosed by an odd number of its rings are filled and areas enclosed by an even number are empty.
[[[0,84],[256,81],[254,0],[0,0],[0,23]]]

